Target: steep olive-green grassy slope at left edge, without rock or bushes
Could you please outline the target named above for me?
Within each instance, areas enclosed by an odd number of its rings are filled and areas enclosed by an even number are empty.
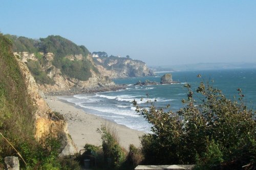
[[[0,132],[18,147],[33,139],[35,108],[11,48],[11,41],[0,34]],[[14,150],[0,136],[0,169],[3,158],[13,154]]]

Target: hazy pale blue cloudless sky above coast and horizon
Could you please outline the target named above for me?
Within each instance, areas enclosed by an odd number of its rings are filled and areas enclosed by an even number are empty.
[[[4,34],[60,35],[148,65],[256,62],[256,1],[0,2]]]

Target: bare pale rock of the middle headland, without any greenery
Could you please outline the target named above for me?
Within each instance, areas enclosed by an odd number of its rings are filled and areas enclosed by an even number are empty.
[[[82,89],[86,88],[96,88],[99,86],[112,86],[114,82],[112,82],[108,77],[98,74],[93,69],[91,71],[91,78],[87,81],[80,81],[75,78],[70,78],[64,74],[62,74],[61,70],[55,67],[52,62],[54,59],[53,53],[41,53],[42,61],[39,62],[38,58],[35,57],[35,54],[22,52],[22,53],[14,53],[14,55],[19,56],[20,60],[23,63],[27,63],[28,61],[36,61],[40,63],[42,70],[47,73],[47,76],[54,82],[52,84],[38,84],[39,88],[44,92],[54,92],[54,91],[61,91],[61,90],[69,90],[71,88]],[[67,56],[67,60],[74,61],[74,60],[82,60],[82,55],[75,55],[75,56]],[[90,56],[88,56],[88,60],[93,63],[93,60]]]

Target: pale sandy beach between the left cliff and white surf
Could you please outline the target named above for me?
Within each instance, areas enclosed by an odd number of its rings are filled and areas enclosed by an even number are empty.
[[[66,118],[69,134],[76,144],[78,151],[83,149],[86,143],[102,144],[101,136],[96,130],[105,123],[110,123],[116,127],[120,144],[126,150],[129,149],[130,144],[134,144],[136,147],[140,146],[139,136],[143,135],[144,132],[133,130],[99,116],[86,113],[74,104],[58,99],[58,96],[47,96],[46,102],[53,111],[60,112]]]

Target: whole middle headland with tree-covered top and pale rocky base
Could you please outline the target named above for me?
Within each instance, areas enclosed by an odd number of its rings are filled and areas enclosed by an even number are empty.
[[[76,45],[60,36],[48,36],[38,41],[8,36],[13,42],[15,56],[27,64],[44,92],[114,85],[108,77],[100,74],[90,52],[83,45]]]

